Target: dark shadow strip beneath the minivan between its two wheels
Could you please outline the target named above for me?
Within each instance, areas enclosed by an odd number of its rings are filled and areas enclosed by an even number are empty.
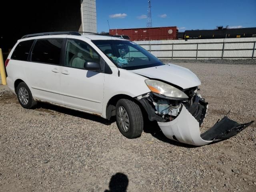
[[[63,113],[66,115],[72,115],[72,116],[96,121],[96,122],[99,122],[99,123],[102,123],[105,125],[110,125],[113,122],[115,122],[115,118],[111,118],[110,120],[107,120],[107,119],[104,119],[97,115],[93,115],[93,114],[89,114],[89,113],[85,113],[85,112],[81,112],[81,111],[76,111],[73,109],[68,109],[68,108],[64,108],[64,107],[60,107],[60,106],[56,106],[56,105],[52,105],[52,104],[48,104],[48,103],[44,103],[44,102],[38,102],[38,104],[36,106],[36,110],[43,111],[43,112],[49,112],[49,113],[51,113],[50,110],[53,110],[53,111]]]

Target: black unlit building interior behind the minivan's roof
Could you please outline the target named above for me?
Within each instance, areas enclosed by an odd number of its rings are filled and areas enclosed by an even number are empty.
[[[0,48],[6,58],[18,39],[26,34],[78,31],[80,0],[3,1],[0,8]]]

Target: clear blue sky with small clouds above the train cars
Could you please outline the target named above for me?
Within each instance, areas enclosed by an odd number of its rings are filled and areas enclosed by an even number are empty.
[[[256,27],[256,0],[151,0],[152,27]],[[146,27],[148,0],[96,0],[97,31]]]

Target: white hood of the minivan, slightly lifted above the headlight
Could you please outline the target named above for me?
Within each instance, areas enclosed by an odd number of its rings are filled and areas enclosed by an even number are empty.
[[[169,63],[162,66],[131,71],[147,78],[169,82],[183,89],[199,86],[201,84],[198,77],[189,69]]]

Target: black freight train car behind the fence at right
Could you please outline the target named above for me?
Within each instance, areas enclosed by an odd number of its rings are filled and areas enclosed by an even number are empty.
[[[256,27],[252,28],[217,28],[216,30],[186,30],[183,39],[218,39],[256,37]]]

